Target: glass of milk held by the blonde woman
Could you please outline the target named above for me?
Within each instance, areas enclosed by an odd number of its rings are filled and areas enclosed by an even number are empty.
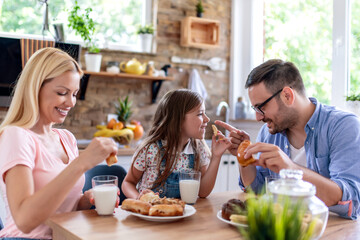
[[[114,213],[118,178],[112,175],[100,175],[91,179],[95,210],[99,215],[112,215]]]

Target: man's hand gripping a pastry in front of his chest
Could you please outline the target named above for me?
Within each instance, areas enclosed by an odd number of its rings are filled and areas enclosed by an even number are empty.
[[[245,158],[256,153],[261,153],[259,160],[254,165],[268,168],[279,173],[281,169],[299,169],[291,159],[278,146],[269,143],[254,143],[245,150]]]

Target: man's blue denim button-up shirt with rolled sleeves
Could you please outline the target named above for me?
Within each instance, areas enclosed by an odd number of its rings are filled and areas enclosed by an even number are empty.
[[[341,188],[342,199],[337,205],[329,207],[330,211],[357,219],[360,214],[360,118],[323,105],[315,98],[310,98],[310,101],[316,109],[305,126],[307,167],[330,178]],[[290,144],[285,132],[270,134],[264,124],[256,141],[275,144],[290,157]],[[256,168],[257,175],[251,188],[259,192],[265,177],[277,174],[259,166]],[[239,184],[244,189],[241,178]]]

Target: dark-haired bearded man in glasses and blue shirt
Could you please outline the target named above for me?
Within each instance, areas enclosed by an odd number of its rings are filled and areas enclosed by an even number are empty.
[[[257,161],[240,166],[240,186],[259,192],[266,176],[281,169],[302,170],[303,180],[316,186],[316,196],[340,216],[360,213],[360,119],[354,114],[306,96],[294,64],[269,60],[253,69],[246,81],[256,120],[264,124],[245,158]],[[249,135],[224,122],[236,155]]]

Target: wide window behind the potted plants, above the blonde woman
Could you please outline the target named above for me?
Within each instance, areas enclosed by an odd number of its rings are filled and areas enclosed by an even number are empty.
[[[0,1],[0,31],[16,34],[42,35],[45,0]],[[74,0],[48,0],[49,29],[47,36],[55,35],[52,24],[63,23],[65,39],[81,42],[67,27],[68,10]],[[152,22],[151,0],[78,0],[82,9],[91,7],[91,17],[98,23],[96,39],[101,48],[139,49],[136,30],[139,25]]]

